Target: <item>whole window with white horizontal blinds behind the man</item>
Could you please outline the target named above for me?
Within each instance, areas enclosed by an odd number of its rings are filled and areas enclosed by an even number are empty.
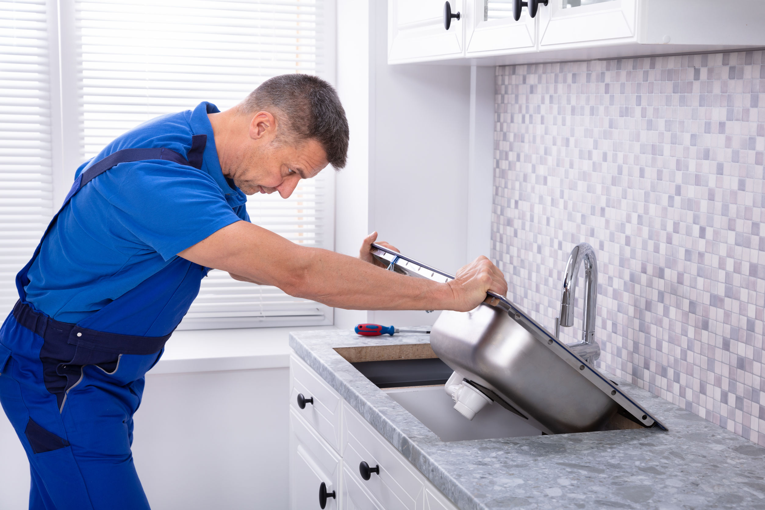
[[[0,306],[16,300],[64,175],[157,115],[203,100],[227,109],[278,74],[330,73],[325,26],[324,0],[0,0]],[[290,199],[256,195],[247,209],[331,249],[332,192],[327,169]],[[331,323],[330,307],[210,271],[181,329]]]

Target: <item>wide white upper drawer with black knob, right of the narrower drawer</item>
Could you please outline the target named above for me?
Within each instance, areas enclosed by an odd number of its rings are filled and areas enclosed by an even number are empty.
[[[386,510],[422,508],[425,484],[422,475],[377,430],[350,405],[343,404],[343,461],[356,480],[369,490]],[[363,480],[359,464],[379,466]]]

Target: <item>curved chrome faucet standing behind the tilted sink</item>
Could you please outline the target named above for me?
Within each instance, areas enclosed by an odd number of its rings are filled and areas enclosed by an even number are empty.
[[[595,250],[582,242],[571,250],[566,263],[561,296],[561,314],[555,319],[555,338],[560,336],[561,326],[574,325],[574,298],[579,268],[584,262],[584,318],[581,328],[581,342],[568,344],[578,356],[590,365],[601,357],[601,347],[595,342],[595,319],[597,317],[597,258]]]

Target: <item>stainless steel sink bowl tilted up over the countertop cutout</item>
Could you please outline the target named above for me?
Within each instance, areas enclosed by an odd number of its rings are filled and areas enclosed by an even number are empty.
[[[439,358],[547,434],[598,430],[619,404],[497,307],[443,312],[431,328]],[[482,411],[483,412],[483,411]],[[479,413],[480,415],[480,413]]]

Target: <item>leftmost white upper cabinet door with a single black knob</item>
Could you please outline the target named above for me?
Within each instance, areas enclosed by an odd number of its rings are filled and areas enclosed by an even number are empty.
[[[444,28],[444,0],[389,0],[388,63],[428,62],[464,54],[464,0],[449,0],[451,19]]]

